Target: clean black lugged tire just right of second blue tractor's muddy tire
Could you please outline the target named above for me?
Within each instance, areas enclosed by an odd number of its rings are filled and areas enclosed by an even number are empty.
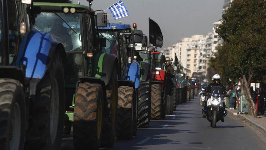
[[[140,81],[138,88],[138,127],[145,128],[150,123],[150,84],[149,81]]]

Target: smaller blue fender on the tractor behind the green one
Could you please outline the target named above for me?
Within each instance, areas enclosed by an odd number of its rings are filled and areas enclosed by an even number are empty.
[[[138,88],[140,84],[140,65],[139,63],[132,61],[132,63],[126,64],[126,75],[123,79],[131,80],[135,83],[135,88]]]

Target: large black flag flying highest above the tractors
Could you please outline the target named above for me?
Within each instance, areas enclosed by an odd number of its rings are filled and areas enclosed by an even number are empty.
[[[162,37],[162,31],[159,25],[149,18],[149,33],[150,33],[150,44],[155,47],[162,47],[164,39]]]

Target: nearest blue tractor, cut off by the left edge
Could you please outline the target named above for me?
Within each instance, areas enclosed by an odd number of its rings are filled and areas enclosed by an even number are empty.
[[[60,149],[63,44],[32,30],[40,9],[30,0],[2,0],[0,5],[0,147]]]

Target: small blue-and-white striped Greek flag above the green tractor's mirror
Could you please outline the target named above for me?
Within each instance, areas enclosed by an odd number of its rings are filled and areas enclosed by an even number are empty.
[[[118,1],[114,5],[110,6],[109,10],[113,14],[115,20],[129,15],[128,10],[122,1]]]

